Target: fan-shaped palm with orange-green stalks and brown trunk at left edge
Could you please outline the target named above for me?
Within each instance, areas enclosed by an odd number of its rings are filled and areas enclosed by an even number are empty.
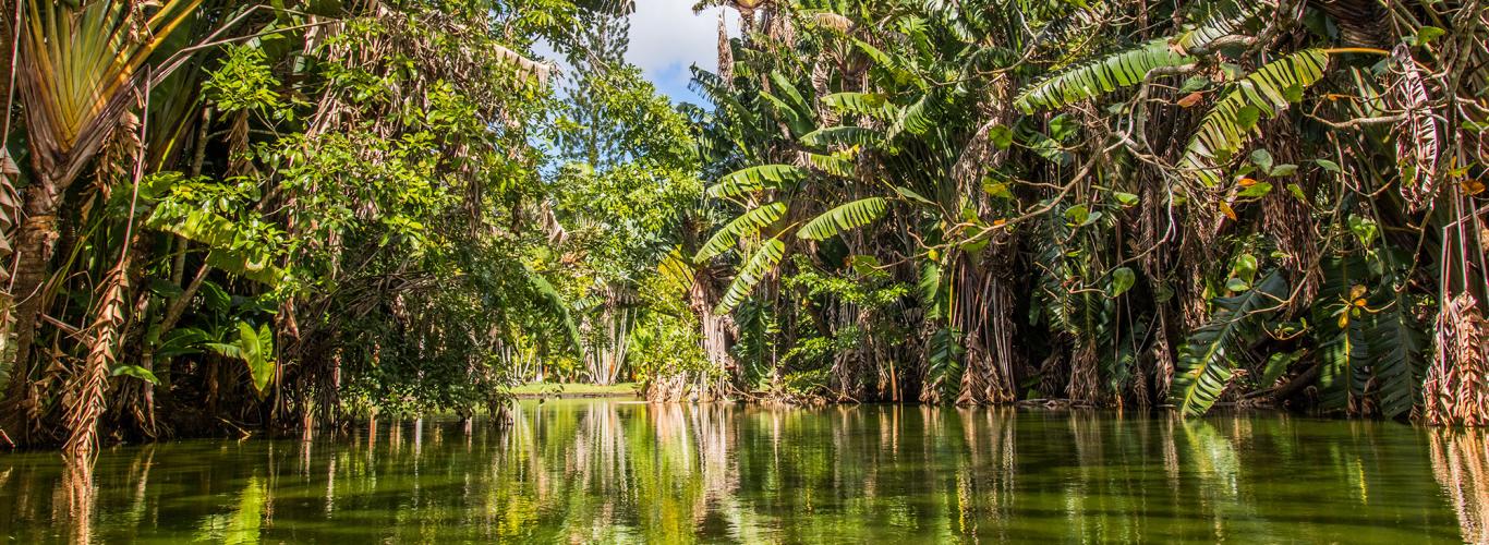
[[[19,42],[15,71],[31,180],[15,237],[16,340],[6,399],[25,408],[10,412],[28,420],[36,409],[28,402],[31,342],[48,298],[43,283],[67,192],[141,100],[143,79],[159,76],[144,70],[146,61],[170,43],[167,37],[195,15],[201,0],[18,1],[25,1],[21,25],[6,30]],[[25,427],[16,426],[22,433]]]

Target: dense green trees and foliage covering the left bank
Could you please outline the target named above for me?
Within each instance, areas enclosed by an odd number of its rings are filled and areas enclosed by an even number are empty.
[[[630,302],[701,191],[691,134],[618,54],[560,89],[532,51],[591,58],[627,9],[6,1],[0,430],[86,451],[613,380],[602,331],[664,322]]]

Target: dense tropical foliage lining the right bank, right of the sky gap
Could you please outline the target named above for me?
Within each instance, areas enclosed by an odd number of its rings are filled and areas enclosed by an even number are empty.
[[[1489,417],[1480,3],[727,4],[737,386]]]

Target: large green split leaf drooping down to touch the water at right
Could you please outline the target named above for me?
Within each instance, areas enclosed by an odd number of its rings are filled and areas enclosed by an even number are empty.
[[[1272,272],[1245,293],[1215,299],[1219,310],[1209,323],[1190,335],[1179,353],[1178,372],[1173,374],[1173,404],[1184,415],[1209,412],[1230,381],[1245,341],[1255,335],[1260,313],[1275,305],[1286,290],[1286,280]]]

